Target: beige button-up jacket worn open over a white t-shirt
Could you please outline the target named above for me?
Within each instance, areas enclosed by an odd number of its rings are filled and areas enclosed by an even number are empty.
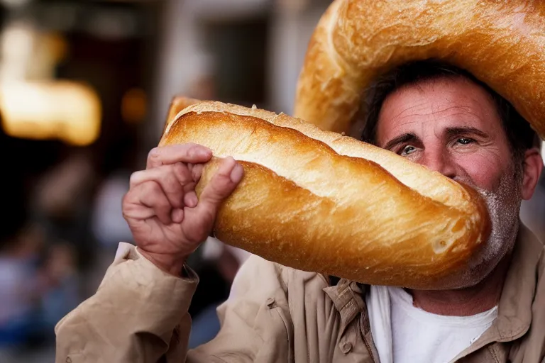
[[[243,265],[219,309],[219,335],[187,351],[197,286],[161,272],[134,247],[116,257],[97,294],[58,323],[57,363],[379,362],[368,289],[260,257]],[[455,362],[539,363],[545,356],[544,246],[524,226],[495,323]]]

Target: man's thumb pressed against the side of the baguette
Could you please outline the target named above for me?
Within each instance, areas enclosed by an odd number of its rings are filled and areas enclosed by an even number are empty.
[[[216,174],[204,186],[197,204],[197,209],[201,209],[198,213],[211,214],[215,218],[219,205],[235,190],[243,174],[242,165],[232,157],[226,157],[219,165]]]

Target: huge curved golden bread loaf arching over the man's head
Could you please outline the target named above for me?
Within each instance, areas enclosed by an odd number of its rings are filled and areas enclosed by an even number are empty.
[[[309,43],[294,116],[358,130],[370,84],[429,58],[468,70],[545,138],[545,1],[534,0],[335,0]]]

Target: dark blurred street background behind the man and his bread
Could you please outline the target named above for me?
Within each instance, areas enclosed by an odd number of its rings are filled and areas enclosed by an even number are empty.
[[[92,295],[119,241],[121,198],[172,96],[291,113],[329,0],[0,0],[0,362],[54,362],[53,328]],[[545,180],[522,218],[543,239]],[[246,254],[209,240],[190,345]]]

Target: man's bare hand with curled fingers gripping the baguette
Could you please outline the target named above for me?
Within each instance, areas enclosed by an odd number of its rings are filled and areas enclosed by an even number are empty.
[[[142,255],[176,276],[207,239],[221,201],[243,177],[241,164],[228,157],[197,199],[195,185],[211,157],[201,145],[156,147],[146,169],[132,174],[123,198],[123,216]]]

